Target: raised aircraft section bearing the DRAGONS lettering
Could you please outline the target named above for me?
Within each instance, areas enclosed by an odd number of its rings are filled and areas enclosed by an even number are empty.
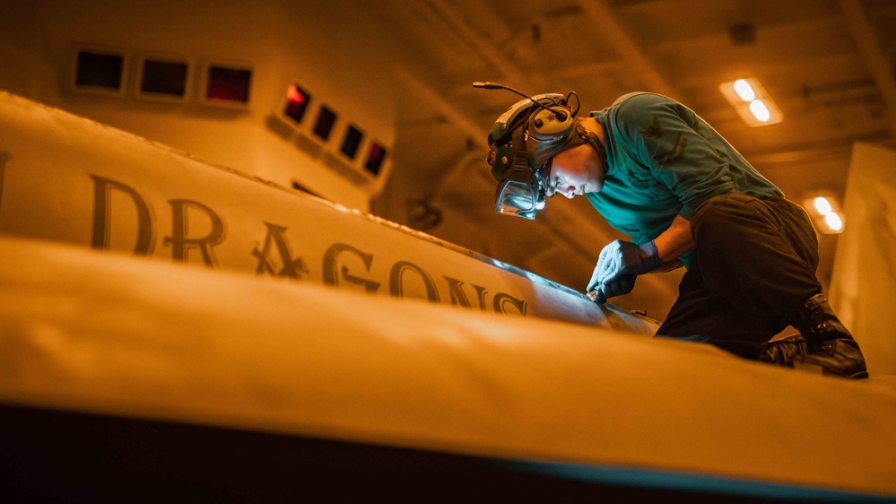
[[[657,322],[320,198],[0,91],[0,233],[653,335]]]

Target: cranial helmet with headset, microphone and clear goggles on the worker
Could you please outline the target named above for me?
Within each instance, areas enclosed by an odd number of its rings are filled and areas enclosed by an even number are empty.
[[[474,83],[486,89],[519,91],[494,83]],[[535,219],[544,208],[546,181],[550,163],[558,152],[587,142],[587,135],[575,119],[578,113],[569,106],[570,93],[539,94],[513,104],[498,117],[489,134],[488,162],[491,175],[498,181],[495,212]]]

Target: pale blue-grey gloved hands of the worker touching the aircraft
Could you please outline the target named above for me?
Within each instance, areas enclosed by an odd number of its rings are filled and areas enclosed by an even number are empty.
[[[597,302],[631,292],[635,277],[663,265],[657,246],[648,241],[640,247],[631,241],[617,239],[600,252],[588,291],[596,291]],[[601,303],[603,304],[603,303]]]

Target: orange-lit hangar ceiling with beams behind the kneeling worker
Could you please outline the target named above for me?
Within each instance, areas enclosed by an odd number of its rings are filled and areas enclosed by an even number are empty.
[[[704,117],[793,201],[842,197],[851,145],[896,138],[896,3],[886,0],[425,0],[363,3],[404,54],[395,169],[375,213],[584,289],[621,238],[587,201],[555,198],[535,222],[498,216],[485,135],[526,93],[576,91],[582,110],[655,91]],[[758,79],[784,120],[748,126],[719,91]],[[848,225],[848,223],[847,223]],[[837,235],[820,235],[830,280]],[[662,318],[682,272],[648,275],[614,301]]]

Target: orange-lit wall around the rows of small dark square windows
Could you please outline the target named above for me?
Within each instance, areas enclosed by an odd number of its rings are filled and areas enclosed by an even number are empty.
[[[361,126],[380,143],[394,143],[395,82],[382,63],[394,61],[396,46],[388,27],[370,21],[357,6],[288,0],[3,4],[0,89],[286,187],[295,180],[319,196],[369,211],[382,180],[358,176],[360,167],[352,171],[326,162],[326,146],[303,149],[296,131],[272,119],[286,87],[298,80],[341,120]],[[196,64],[194,75],[207,61],[251,65],[249,107],[202,105],[195,99],[198,86],[186,103],[140,100],[133,64],[123,97],[74,92],[69,82],[79,44],[123,49],[132,56],[187,56]],[[331,136],[333,152],[339,141],[340,135]]]

